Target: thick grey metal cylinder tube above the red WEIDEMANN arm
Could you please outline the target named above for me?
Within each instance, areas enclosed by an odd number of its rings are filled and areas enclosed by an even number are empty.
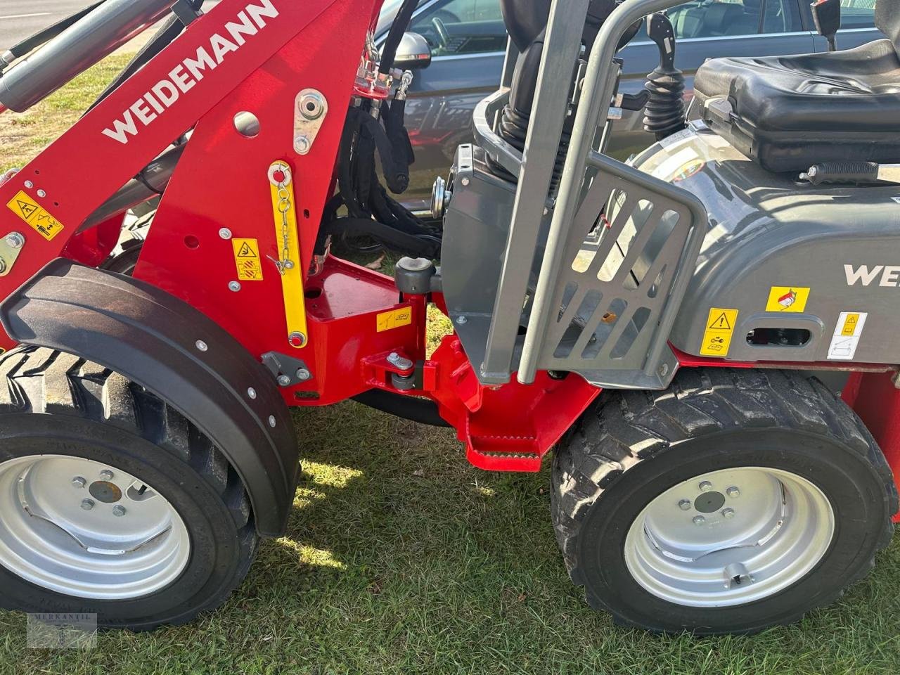
[[[173,0],[107,0],[0,77],[0,104],[24,112],[168,14]]]

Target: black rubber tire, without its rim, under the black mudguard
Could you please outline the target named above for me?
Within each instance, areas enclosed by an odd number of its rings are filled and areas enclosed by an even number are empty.
[[[191,542],[175,581],[133,599],[76,598],[0,566],[0,606],[86,612],[102,627],[148,630],[183,624],[228,598],[247,574],[258,536],[242,482],[208,438],[165,401],[78,356],[19,347],[0,359],[0,378],[0,466],[72,455],[115,467],[165,497]],[[60,489],[70,488],[63,478]]]

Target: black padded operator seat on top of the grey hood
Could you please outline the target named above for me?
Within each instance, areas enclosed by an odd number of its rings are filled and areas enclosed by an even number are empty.
[[[703,119],[770,171],[900,162],[900,0],[878,0],[875,24],[887,40],[856,49],[707,61]]]

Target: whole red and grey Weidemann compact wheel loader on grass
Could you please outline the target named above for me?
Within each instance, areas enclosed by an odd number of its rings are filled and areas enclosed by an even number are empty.
[[[103,0],[0,61],[21,112],[158,25],[0,184],[0,605],[216,608],[284,532],[289,408],[346,399],[485,470],[553,450],[565,567],[624,625],[752,633],[869,571],[900,471],[897,0],[857,49],[708,61],[689,110],[676,0],[503,0],[502,86],[430,219],[392,197],[415,0],[380,46],[380,0],[200,4]],[[642,27],[660,66],[621,93]],[[656,138],[626,162],[623,108]]]

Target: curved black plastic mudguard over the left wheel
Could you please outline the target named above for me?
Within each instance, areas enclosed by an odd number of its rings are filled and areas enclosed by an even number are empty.
[[[259,534],[284,534],[300,466],[290,413],[272,374],[209,317],[146,282],[57,258],[0,303],[0,321],[17,342],[82,356],[169,401],[234,466]]]

